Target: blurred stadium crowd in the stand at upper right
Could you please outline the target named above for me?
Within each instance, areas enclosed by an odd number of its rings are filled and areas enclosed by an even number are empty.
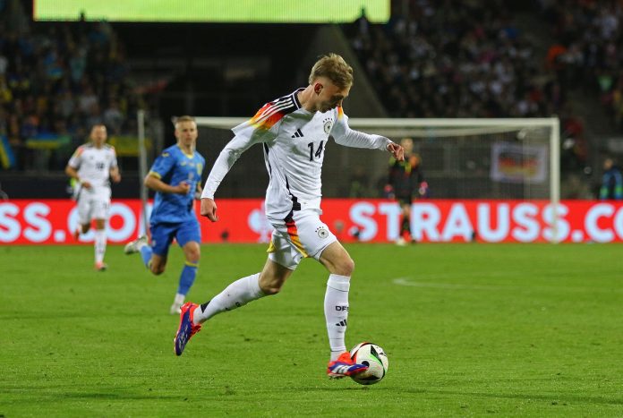
[[[553,39],[544,59],[537,53],[543,46],[517,29],[500,0],[394,2],[387,24],[371,24],[363,13],[346,31],[389,116],[559,115],[563,172],[590,174],[585,123],[568,96],[596,93],[623,125],[623,4],[538,4],[534,19]]]

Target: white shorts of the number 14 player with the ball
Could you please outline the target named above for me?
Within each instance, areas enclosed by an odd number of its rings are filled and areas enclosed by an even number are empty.
[[[296,269],[304,257],[320,259],[331,243],[337,241],[329,226],[320,220],[320,211],[297,210],[288,222],[270,219],[275,228],[269,245],[269,259],[286,269]]]

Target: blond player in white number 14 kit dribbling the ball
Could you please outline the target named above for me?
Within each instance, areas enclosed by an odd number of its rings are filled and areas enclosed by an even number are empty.
[[[403,159],[403,149],[388,138],[350,129],[342,101],[353,84],[353,69],[341,56],[321,57],[311,69],[309,81],[306,88],[266,104],[252,119],[232,129],[234,139],[212,167],[201,194],[201,215],[216,222],[214,193],[219,183],[243,151],[261,144],[269,172],[266,215],[275,231],[269,260],[260,273],[236,280],[208,303],[183,305],[174,340],[177,355],[183,353],[203,322],[277,294],[298,263],[312,257],[329,270],[324,301],[331,352],[327,374],[343,378],[367,369],[354,363],[346,351],[348,290],[354,261],[320,220],[320,173],[329,135],[347,147],[389,151],[397,160]]]

